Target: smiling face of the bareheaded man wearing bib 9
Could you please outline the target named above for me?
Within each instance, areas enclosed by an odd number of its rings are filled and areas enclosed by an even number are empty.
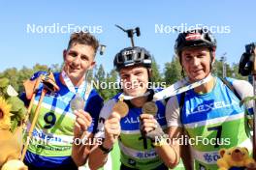
[[[64,50],[64,71],[71,80],[80,81],[84,73],[94,67],[94,54],[92,46],[80,43],[74,43]]]

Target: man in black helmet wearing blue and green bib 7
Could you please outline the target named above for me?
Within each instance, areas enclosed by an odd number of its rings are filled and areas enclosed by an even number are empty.
[[[240,106],[240,99],[253,96],[252,86],[247,81],[212,75],[216,41],[207,29],[180,33],[175,49],[188,84],[208,79],[169,99],[166,108],[169,136],[189,136],[183,145],[190,147],[185,151],[188,158],[193,157],[190,169],[217,169],[221,148],[240,146],[251,152],[248,120],[253,115],[252,102]],[[179,158],[181,145],[176,142],[173,146]]]

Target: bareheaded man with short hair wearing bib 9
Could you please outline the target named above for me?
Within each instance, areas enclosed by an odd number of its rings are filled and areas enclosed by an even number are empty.
[[[89,33],[71,35],[68,48],[63,51],[63,69],[53,73],[60,90],[47,93],[40,108],[32,140],[29,141],[24,159],[29,169],[77,170],[78,166],[85,162],[90,144],[86,145],[79,140],[75,142],[75,139],[93,138],[103,105],[103,99],[86,81],[85,76],[95,65],[98,46],[99,42]],[[32,79],[41,73],[44,72],[37,72]],[[43,86],[39,86],[30,122],[42,89]],[[82,109],[71,109],[70,103],[75,98],[83,99],[85,104]],[[25,95],[22,99],[25,99]]]

